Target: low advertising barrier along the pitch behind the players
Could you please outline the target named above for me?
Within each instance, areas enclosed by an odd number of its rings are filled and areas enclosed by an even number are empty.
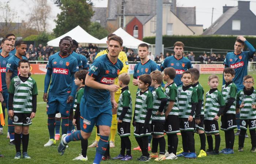
[[[31,74],[40,75],[40,74],[46,74],[46,64],[47,61],[29,61],[30,64],[30,72]],[[129,69],[128,73],[133,74],[134,73],[134,67],[136,63],[138,62],[128,62],[129,63]],[[200,74],[222,74],[224,65],[223,62],[191,62],[192,66],[200,71]],[[158,66],[161,65],[161,62],[157,62]],[[89,64],[91,65],[91,63]],[[239,67],[239,66],[238,66]],[[255,71],[256,70],[256,62],[249,62],[248,64],[248,71]],[[4,68],[1,68],[1,72],[5,71]],[[181,74],[181,72],[179,72]]]

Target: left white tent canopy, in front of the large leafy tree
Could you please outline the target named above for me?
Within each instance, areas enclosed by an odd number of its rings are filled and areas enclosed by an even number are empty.
[[[70,36],[72,39],[75,39],[76,42],[82,43],[99,43],[99,39],[94,38],[90,34],[88,34],[82,27],[76,26],[74,29],[70,30],[64,35],[59,36],[53,40],[47,42],[48,46],[59,47],[60,39],[64,38],[65,36]]]

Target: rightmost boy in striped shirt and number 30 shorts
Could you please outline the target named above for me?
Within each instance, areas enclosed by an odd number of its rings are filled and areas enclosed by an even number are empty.
[[[256,152],[256,90],[253,88],[254,79],[251,75],[246,75],[243,79],[244,89],[237,93],[237,108],[240,108],[240,134],[238,138],[238,152],[244,151],[244,138],[249,126],[251,134],[252,149]],[[241,105],[239,105],[241,101]]]

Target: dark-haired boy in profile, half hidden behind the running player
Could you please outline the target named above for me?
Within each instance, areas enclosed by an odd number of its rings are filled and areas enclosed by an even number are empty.
[[[73,125],[76,126],[77,130],[80,130],[80,101],[83,97],[84,92],[84,79],[86,74],[88,73],[87,70],[80,70],[75,73],[75,85],[78,86],[78,91],[76,92],[75,102],[74,102],[74,118],[73,118]],[[88,147],[88,140],[81,140],[81,148],[82,152],[80,155],[73,160],[80,160],[80,161],[87,161],[87,147]]]

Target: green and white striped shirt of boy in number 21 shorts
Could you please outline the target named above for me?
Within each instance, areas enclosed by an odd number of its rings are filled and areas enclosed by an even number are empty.
[[[192,85],[183,90],[182,86],[178,87],[178,101],[179,101],[179,118],[188,118],[191,114],[192,104],[197,104],[197,93]]]

